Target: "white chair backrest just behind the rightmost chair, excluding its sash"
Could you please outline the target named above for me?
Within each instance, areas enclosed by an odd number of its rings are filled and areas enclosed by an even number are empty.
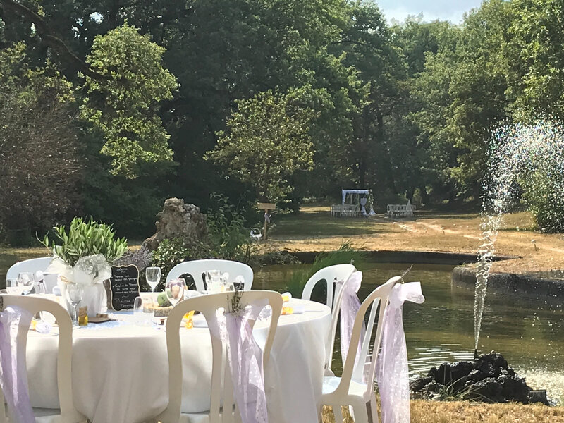
[[[336,286],[336,282],[348,280],[350,275],[356,271],[353,264],[335,264],[333,266],[324,267],[313,274],[311,278],[305,283],[302,292],[302,300],[309,300],[312,296],[314,287],[319,282],[325,282],[327,287],[326,305],[331,308],[331,326],[329,333],[327,333],[325,341],[325,372],[326,374],[333,374],[331,372],[331,360],[333,358],[333,347],[335,346],[335,334],[337,331],[337,321],[339,319],[339,308],[341,307],[341,289]]]

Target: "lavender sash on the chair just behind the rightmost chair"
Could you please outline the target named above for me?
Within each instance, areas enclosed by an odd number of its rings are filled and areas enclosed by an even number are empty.
[[[350,338],[353,336],[353,326],[355,326],[355,318],[357,317],[358,309],[360,309],[360,300],[358,299],[357,292],[362,283],[362,271],[355,271],[343,283],[343,299],[341,300],[341,357],[343,364],[347,360],[348,348],[350,345]],[[364,333],[366,327],[362,324],[362,332],[360,333],[360,343],[358,343],[357,360],[362,350],[362,342],[364,341]]]

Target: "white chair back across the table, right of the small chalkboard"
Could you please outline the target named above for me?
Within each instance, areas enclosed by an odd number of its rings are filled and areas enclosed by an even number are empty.
[[[243,276],[245,281],[243,290],[250,290],[252,287],[253,273],[250,266],[247,266],[245,263],[219,259],[190,260],[189,262],[176,264],[166,275],[166,281],[168,282],[184,274],[189,274],[194,279],[196,290],[202,291],[207,286],[207,283],[204,281],[204,274],[208,270],[227,272],[229,274],[228,283],[234,282],[237,276]]]

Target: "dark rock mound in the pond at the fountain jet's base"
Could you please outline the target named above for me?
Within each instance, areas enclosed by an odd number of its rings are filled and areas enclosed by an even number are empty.
[[[531,388],[515,375],[501,354],[492,351],[474,362],[443,363],[412,381],[411,391],[429,399],[465,398],[486,403],[529,403]]]

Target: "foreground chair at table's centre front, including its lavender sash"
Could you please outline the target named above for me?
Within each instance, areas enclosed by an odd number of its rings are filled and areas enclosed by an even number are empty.
[[[271,317],[264,350],[261,350],[252,336],[252,328],[266,305],[271,307]],[[232,307],[233,311],[230,310]],[[209,411],[188,414],[181,412],[183,369],[180,330],[184,329],[180,329],[180,322],[192,310],[204,315],[210,329],[212,389]],[[269,360],[281,311],[282,296],[266,290],[231,291],[179,302],[166,321],[169,398],[166,410],[157,417],[157,421],[267,422],[263,369]]]

